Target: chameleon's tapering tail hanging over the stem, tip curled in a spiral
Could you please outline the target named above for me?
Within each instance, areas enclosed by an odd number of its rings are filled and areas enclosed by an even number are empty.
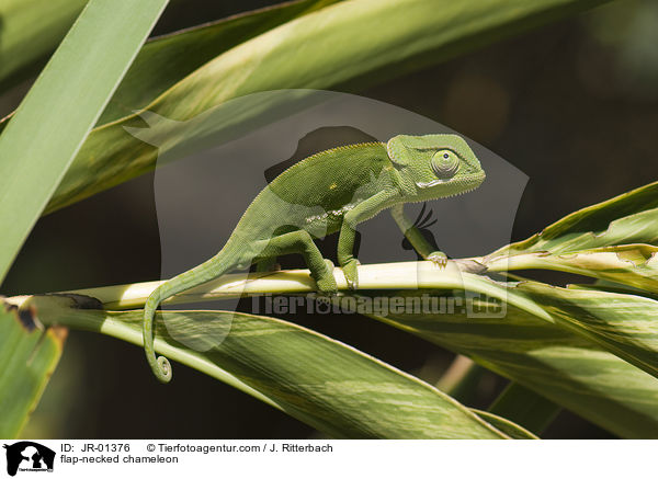
[[[156,309],[160,303],[170,298],[171,296],[191,289],[203,283],[207,283],[214,280],[228,270],[232,269],[235,262],[227,262],[225,249],[219,251],[215,256],[211,258],[205,263],[193,267],[192,270],[185,271],[178,276],[162,283],[158,286],[146,300],[144,306],[144,322],[143,322],[143,338],[144,338],[144,352],[146,353],[146,360],[160,383],[169,383],[171,380],[171,364],[164,356],[156,357],[156,350],[154,347],[154,316]],[[224,263],[224,264],[223,264]]]

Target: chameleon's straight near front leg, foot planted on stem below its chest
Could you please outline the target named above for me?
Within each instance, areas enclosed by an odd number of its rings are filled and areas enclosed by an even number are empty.
[[[342,267],[350,289],[359,286],[358,266],[361,264],[354,258],[354,240],[356,239],[356,225],[375,216],[383,209],[395,193],[382,191],[374,196],[359,203],[343,217],[338,237],[338,264]]]

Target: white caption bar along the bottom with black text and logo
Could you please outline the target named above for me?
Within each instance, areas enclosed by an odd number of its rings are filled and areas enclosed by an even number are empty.
[[[650,441],[3,441],[23,478],[117,475],[212,477],[644,477],[655,469]],[[45,448],[44,448],[45,447]],[[53,458],[48,449],[54,452]],[[20,455],[20,457],[18,456]],[[22,459],[21,459],[22,457]],[[16,460],[18,470],[16,470]],[[91,475],[91,476],[90,476]],[[418,475],[418,476],[417,476]],[[422,475],[422,476],[421,476]]]

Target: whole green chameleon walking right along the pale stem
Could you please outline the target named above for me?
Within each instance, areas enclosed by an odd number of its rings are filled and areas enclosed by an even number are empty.
[[[313,242],[339,231],[338,262],[350,288],[359,283],[353,255],[356,225],[386,208],[419,254],[439,266],[447,256],[431,251],[418,228],[405,218],[405,203],[466,193],[485,172],[457,135],[398,135],[388,142],[362,142],[313,155],[283,171],[249,205],[224,248],[206,262],[162,283],[144,308],[144,346],[154,374],[171,379],[169,361],[154,350],[152,321],[164,299],[236,269],[257,264],[269,271],[276,256],[299,253],[318,289],[338,290],[333,264]]]

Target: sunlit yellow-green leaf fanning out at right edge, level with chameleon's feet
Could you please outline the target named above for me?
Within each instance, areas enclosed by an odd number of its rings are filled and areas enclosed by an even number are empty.
[[[567,215],[480,261],[489,272],[557,270],[658,293],[658,182]]]

